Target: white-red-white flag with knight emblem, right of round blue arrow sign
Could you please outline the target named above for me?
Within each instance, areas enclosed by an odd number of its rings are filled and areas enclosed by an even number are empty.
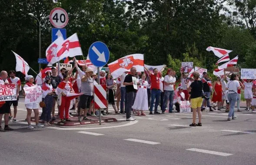
[[[143,54],[131,54],[117,59],[113,63],[108,64],[110,73],[113,78],[117,78],[123,72],[130,71],[132,67],[136,67],[137,72],[144,71],[144,56]]]

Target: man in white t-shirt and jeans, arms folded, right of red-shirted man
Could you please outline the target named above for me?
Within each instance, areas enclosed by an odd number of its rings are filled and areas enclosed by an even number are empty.
[[[164,76],[164,99],[163,99],[163,108],[162,113],[164,114],[167,101],[169,99],[169,113],[173,112],[173,98],[174,98],[174,89],[173,85],[176,82],[176,78],[173,77],[173,70],[168,69],[167,71],[168,75]]]

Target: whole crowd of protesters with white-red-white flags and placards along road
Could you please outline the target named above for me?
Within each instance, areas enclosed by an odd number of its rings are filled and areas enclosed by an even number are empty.
[[[67,40],[78,38],[70,36]],[[73,38],[72,38],[73,37]],[[58,107],[60,122],[71,122],[73,117],[70,110],[77,115],[78,121],[90,121],[90,116],[109,115],[108,107],[113,106],[115,114],[126,114],[126,121],[134,121],[131,114],[138,116],[160,115],[174,112],[193,112],[193,122],[190,126],[202,126],[202,111],[221,111],[225,108],[228,112],[228,119],[236,119],[235,105],[240,111],[241,89],[244,89],[246,99],[246,111],[256,112],[256,84],[254,79],[244,79],[250,75],[248,69],[241,69],[241,73],[227,72],[228,66],[234,66],[235,59],[226,58],[228,53],[218,56],[217,64],[226,62],[214,70],[216,78],[210,78],[207,69],[195,67],[193,62],[184,62],[180,70],[173,70],[162,66],[148,66],[144,64],[143,54],[132,54],[124,56],[108,64],[109,72],[100,71],[100,79],[96,74],[97,68],[90,63],[90,59],[77,60],[74,56],[80,56],[81,50],[69,48],[62,50],[62,55],[57,55],[53,44],[62,45],[57,39],[46,50],[49,65],[57,63],[63,57],[64,63],[73,65],[69,69],[62,67],[58,74],[57,67],[47,67],[40,71],[36,78],[28,75],[29,65],[14,53],[17,59],[16,71],[22,72],[25,77],[25,85],[21,87],[21,81],[15,76],[14,70],[0,72],[0,119],[4,115],[4,127],[0,131],[13,130],[8,126],[12,119],[16,121],[19,93],[25,97],[27,108],[28,129],[50,126],[51,120],[56,120],[55,106]],[[70,44],[71,45],[71,44]],[[80,46],[79,44],[77,45]],[[56,48],[56,47],[55,47]],[[63,48],[63,47],[62,47]],[[66,48],[66,47],[64,47]],[[208,47],[217,56],[223,53],[220,48]],[[228,51],[228,50],[226,50]],[[68,57],[73,57],[68,60]],[[225,57],[225,58],[223,58]],[[227,60],[228,59],[228,60]],[[167,70],[163,75],[164,70]],[[176,72],[181,76],[177,77]],[[248,77],[248,76],[247,76]],[[216,79],[216,81],[212,81]],[[94,88],[97,85],[106,86],[107,106],[106,109],[94,108]],[[12,85],[13,84],[13,85]],[[116,99],[116,101],[115,101]],[[226,103],[226,104],[225,104]],[[225,105],[225,107],[224,107]],[[13,114],[10,107],[13,106]],[[158,112],[160,106],[161,112]],[[175,110],[173,109],[175,106]],[[39,115],[39,107],[42,107],[42,114]],[[32,110],[35,114],[36,125],[31,125]],[[196,123],[196,112],[199,122]],[[40,117],[39,117],[40,116]],[[40,125],[40,122],[44,125]]]

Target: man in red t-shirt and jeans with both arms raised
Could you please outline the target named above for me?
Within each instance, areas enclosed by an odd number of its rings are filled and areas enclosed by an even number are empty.
[[[157,112],[157,107],[159,104],[159,100],[160,100],[160,96],[161,96],[161,90],[160,90],[160,73],[164,70],[164,68],[162,70],[160,70],[160,72],[158,72],[158,69],[153,69],[153,73],[150,72],[149,69],[147,69],[146,67],[144,67],[146,72],[148,73],[148,75],[150,76],[151,79],[151,103],[150,103],[150,115],[153,115],[153,104],[154,101],[156,99],[155,102],[155,109],[154,109],[154,114],[160,114],[160,112]]]

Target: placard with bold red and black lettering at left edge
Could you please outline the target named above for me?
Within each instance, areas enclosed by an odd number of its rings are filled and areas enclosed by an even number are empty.
[[[0,83],[0,101],[17,100],[16,84]]]

